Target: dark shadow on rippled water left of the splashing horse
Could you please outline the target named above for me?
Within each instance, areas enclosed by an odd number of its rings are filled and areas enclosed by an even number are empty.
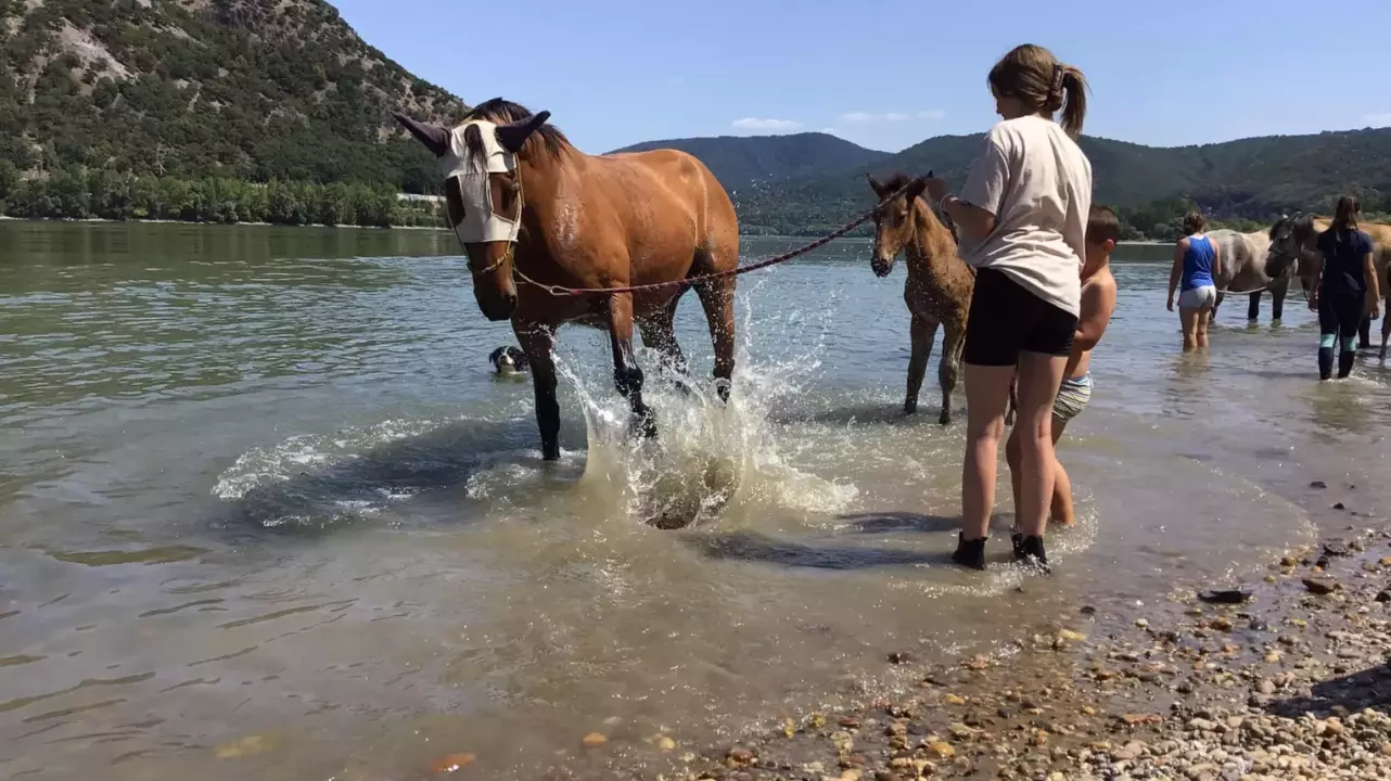
[[[573,447],[565,439],[562,445]],[[541,461],[536,445],[536,427],[529,418],[442,424],[345,453],[281,479],[260,478],[239,496],[220,503],[214,525],[239,532],[314,535],[352,527],[371,510],[403,500],[448,495],[467,503],[470,499],[458,489],[499,460],[523,466],[534,460],[537,471],[566,468]]]

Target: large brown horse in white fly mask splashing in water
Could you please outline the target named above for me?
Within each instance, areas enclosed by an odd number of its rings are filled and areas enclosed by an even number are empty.
[[[691,286],[715,343],[715,379],[729,399],[734,371],[734,277],[739,222],[725,188],[683,151],[590,156],[545,121],[549,111],[488,100],[456,128],[396,120],[440,158],[449,224],[469,257],[473,296],[488,320],[510,320],[531,364],[536,418],[545,460],[561,456],[555,332],[579,322],[609,332],[613,381],[627,397],[634,429],[657,435],[643,403],[643,343],[677,375],[687,371],[672,320]],[[615,293],[552,295],[563,288],[669,286]]]

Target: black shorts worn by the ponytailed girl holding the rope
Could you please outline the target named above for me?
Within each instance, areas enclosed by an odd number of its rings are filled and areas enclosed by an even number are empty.
[[[1077,315],[1027,290],[1003,271],[975,275],[961,360],[972,365],[1015,365],[1020,353],[1067,356]]]

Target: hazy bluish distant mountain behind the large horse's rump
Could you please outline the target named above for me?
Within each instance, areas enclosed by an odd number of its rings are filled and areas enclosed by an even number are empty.
[[[698,157],[729,190],[773,185],[801,176],[871,165],[892,157],[830,133],[718,136],[638,143],[618,151],[680,149]]]

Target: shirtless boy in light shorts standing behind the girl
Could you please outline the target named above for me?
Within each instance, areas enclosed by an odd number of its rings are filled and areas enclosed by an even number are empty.
[[[1106,325],[1116,311],[1116,278],[1111,277],[1111,252],[1120,240],[1120,221],[1116,213],[1104,206],[1093,206],[1086,222],[1086,263],[1082,265],[1082,311],[1072,335],[1072,352],[1063,371],[1063,385],[1053,403],[1053,443],[1063,436],[1068,421],[1086,407],[1092,397],[1092,349],[1100,342]],[[1010,482],[1014,484],[1014,506],[1020,506],[1020,438],[1018,428],[1010,431],[1004,446],[1004,459],[1010,464]],[[1057,477],[1053,482],[1053,502],[1049,517],[1064,525],[1077,523],[1072,510],[1072,482],[1067,470],[1054,460]]]

